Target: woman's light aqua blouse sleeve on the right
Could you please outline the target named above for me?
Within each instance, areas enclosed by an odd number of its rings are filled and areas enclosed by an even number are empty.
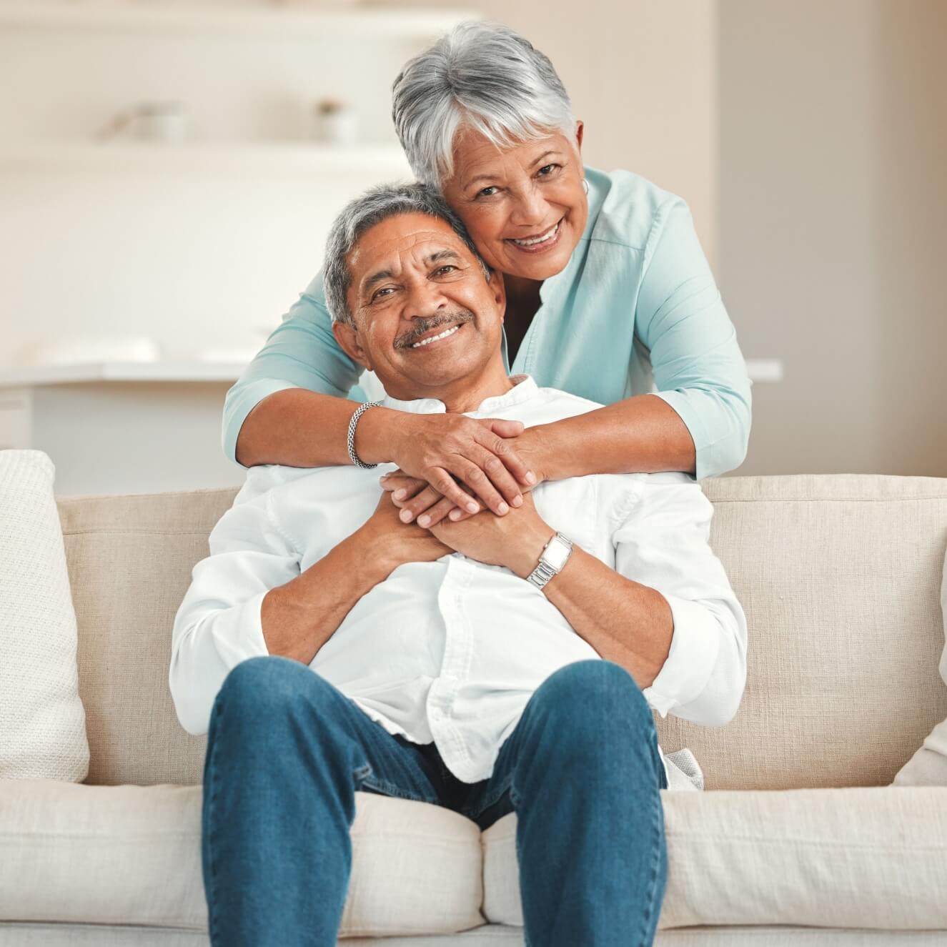
[[[694,439],[696,479],[739,467],[750,436],[752,383],[690,210],[680,199],[661,205],[652,225],[636,326],[651,351],[657,396],[681,416]]]

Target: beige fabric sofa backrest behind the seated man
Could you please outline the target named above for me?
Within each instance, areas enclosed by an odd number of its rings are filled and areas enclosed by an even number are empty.
[[[702,488],[749,624],[746,689],[724,727],[655,714],[662,748],[689,747],[708,790],[887,785],[947,716],[947,478],[731,476]],[[168,689],[170,628],[236,492],[60,499],[87,782],[201,781],[206,738],[181,728]]]

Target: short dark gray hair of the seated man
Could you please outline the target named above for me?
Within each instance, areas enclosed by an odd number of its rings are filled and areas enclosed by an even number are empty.
[[[420,183],[377,185],[349,201],[329,231],[322,285],[333,321],[355,328],[355,319],[348,308],[348,289],[351,286],[348,254],[366,230],[396,214],[427,214],[449,223],[480,263],[484,277],[490,279],[490,267],[477,252],[467,228],[434,188]]]

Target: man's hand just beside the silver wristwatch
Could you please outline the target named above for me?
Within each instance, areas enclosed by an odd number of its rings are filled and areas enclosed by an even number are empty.
[[[536,567],[543,547],[556,535],[536,511],[528,492],[523,494],[523,506],[511,509],[507,516],[496,516],[488,509],[460,522],[441,520],[422,532],[430,532],[452,550],[478,562],[505,565],[521,579]]]

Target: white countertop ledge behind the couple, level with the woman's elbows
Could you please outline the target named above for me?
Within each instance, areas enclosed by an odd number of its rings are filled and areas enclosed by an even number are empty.
[[[85,365],[0,366],[0,388],[45,384],[98,382],[236,382],[244,362],[200,362],[196,360],[155,362],[90,362]],[[754,382],[778,382],[782,362],[778,359],[747,359]]]

